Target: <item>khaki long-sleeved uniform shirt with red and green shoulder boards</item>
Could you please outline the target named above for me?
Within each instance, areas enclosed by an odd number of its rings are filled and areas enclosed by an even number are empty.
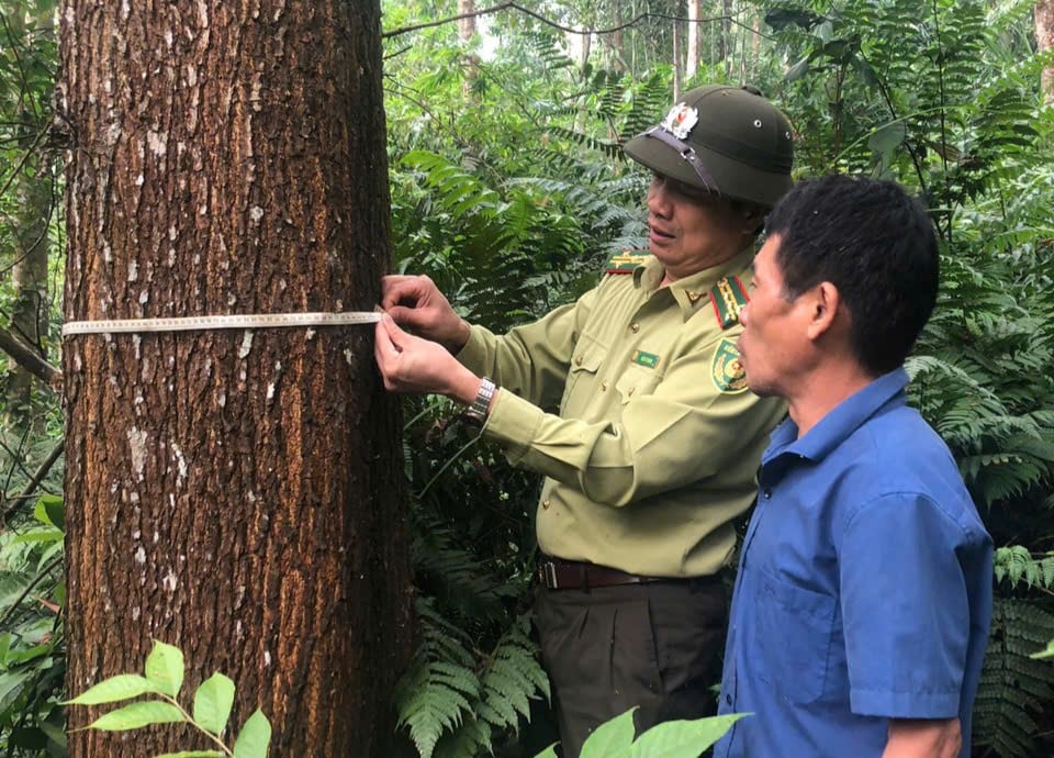
[[[662,265],[648,256],[505,336],[472,326],[458,359],[501,388],[484,433],[513,465],[546,476],[543,553],[653,577],[729,561],[730,522],[750,506],[785,412],[741,371],[728,381],[742,327],[722,328],[708,297],[724,277],[745,285],[752,257],[660,288]]]

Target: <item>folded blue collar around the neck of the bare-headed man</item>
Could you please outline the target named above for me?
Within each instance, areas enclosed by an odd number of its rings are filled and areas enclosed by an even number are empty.
[[[894,400],[899,401],[898,404],[905,403],[907,383],[908,372],[904,367],[878,377],[834,406],[800,439],[798,425],[788,417],[773,431],[769,448],[761,458],[762,466],[784,454],[821,460],[887,403]]]

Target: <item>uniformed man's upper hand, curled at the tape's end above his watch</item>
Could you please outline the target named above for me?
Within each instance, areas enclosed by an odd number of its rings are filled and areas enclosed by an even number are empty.
[[[428,277],[382,277],[381,308],[396,324],[438,342],[451,354],[469,341],[469,325]]]

